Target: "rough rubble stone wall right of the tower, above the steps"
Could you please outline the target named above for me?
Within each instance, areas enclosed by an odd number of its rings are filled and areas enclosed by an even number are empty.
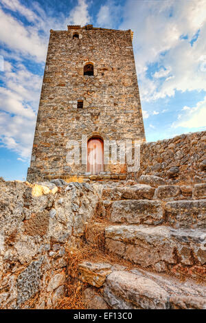
[[[206,180],[205,152],[206,131],[141,144],[138,176],[157,175],[174,182],[203,183]]]

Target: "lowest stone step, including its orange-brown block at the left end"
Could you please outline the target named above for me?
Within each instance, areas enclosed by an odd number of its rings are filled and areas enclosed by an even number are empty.
[[[205,285],[180,281],[165,274],[128,269],[86,260],[78,264],[78,277],[95,287],[87,291],[89,309],[205,309]],[[103,293],[97,294],[97,288]]]

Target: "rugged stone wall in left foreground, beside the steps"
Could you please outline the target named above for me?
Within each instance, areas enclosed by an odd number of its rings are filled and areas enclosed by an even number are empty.
[[[67,189],[1,181],[0,308],[51,309],[65,294],[67,247],[95,212],[87,183]]]

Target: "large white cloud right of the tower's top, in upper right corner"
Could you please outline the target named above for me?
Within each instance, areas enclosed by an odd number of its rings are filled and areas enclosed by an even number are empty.
[[[206,91],[205,12],[205,0],[126,1],[121,28],[135,32],[133,45],[142,101],[171,97],[176,91]],[[191,45],[198,30],[198,38]],[[153,63],[159,70],[151,79],[147,70]]]

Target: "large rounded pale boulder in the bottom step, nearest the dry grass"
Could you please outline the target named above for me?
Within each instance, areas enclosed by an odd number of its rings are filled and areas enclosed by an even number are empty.
[[[106,287],[108,287],[106,289]],[[110,293],[108,293],[110,291]],[[125,309],[121,303],[114,307],[111,293],[130,304],[130,309],[166,309],[169,294],[153,280],[131,274],[128,271],[113,271],[106,278],[104,299],[115,309]],[[124,306],[124,302],[122,304]]]

